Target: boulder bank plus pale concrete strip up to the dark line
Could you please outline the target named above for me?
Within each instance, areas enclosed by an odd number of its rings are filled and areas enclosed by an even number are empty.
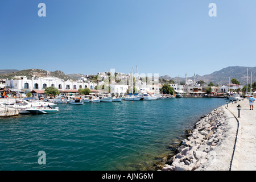
[[[162,171],[229,171],[237,130],[238,122],[225,105],[210,111],[193,129],[186,130],[187,137],[181,140],[174,155],[162,160]]]

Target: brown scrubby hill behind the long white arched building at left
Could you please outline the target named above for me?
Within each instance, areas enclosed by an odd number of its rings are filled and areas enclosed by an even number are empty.
[[[5,69],[6,70],[6,69]],[[14,76],[27,76],[28,78],[32,78],[32,76],[35,77],[58,77],[63,80],[74,80],[74,78],[65,75],[62,71],[55,71],[55,72],[49,72],[45,71],[43,69],[24,69],[22,71],[18,72],[9,72],[9,73],[0,73],[0,78],[14,78]]]

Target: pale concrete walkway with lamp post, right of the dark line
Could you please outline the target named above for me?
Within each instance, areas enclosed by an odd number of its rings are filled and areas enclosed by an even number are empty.
[[[237,105],[240,104],[240,118],[238,118]],[[226,107],[236,117],[238,122],[237,140],[233,154],[232,171],[256,170],[256,104],[250,110],[249,100],[230,103]]]

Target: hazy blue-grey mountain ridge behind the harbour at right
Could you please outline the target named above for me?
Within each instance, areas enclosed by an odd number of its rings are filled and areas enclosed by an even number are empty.
[[[256,67],[226,67],[221,69],[220,71],[216,71],[213,73],[210,73],[209,75],[196,75],[196,81],[203,80],[204,82],[207,82],[209,84],[210,81],[213,82],[213,84],[218,85],[224,85],[229,84],[229,78],[230,81],[232,78],[236,78],[240,84],[244,85],[246,84],[247,80],[247,68],[248,68],[248,83],[250,83],[251,80],[251,72],[253,73],[253,82],[256,81]],[[159,78],[164,78],[166,80],[174,80],[177,82],[177,77],[171,78],[170,76],[160,76]],[[187,77],[187,79],[194,80],[194,77]],[[179,81],[185,82],[184,77],[179,77]]]

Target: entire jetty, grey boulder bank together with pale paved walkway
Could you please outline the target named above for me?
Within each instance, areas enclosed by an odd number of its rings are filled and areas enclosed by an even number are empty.
[[[196,122],[162,171],[255,171],[255,130],[247,99],[222,105]]]

